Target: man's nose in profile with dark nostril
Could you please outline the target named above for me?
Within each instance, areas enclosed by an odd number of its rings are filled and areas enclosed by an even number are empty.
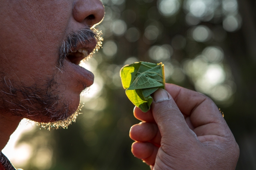
[[[92,27],[99,23],[105,14],[105,9],[100,0],[75,0],[73,17],[80,23]]]

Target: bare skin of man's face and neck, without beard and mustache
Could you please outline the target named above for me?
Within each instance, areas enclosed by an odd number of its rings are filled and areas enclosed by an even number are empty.
[[[92,27],[104,17],[100,0],[0,0],[0,150],[22,118],[38,122],[52,121],[40,113],[13,114],[30,102],[14,88],[32,89],[32,97],[46,93],[58,98],[56,109],[76,111],[80,93],[92,85],[94,76],[67,59],[58,65],[59,50],[69,33]],[[86,44],[93,50],[96,41]],[[79,63],[79,62],[78,62]],[[49,85],[49,80],[54,84]],[[10,90],[9,90],[10,88]],[[34,95],[34,96],[33,96]],[[48,94],[46,94],[47,96]],[[17,102],[21,106],[16,106]],[[65,105],[62,105],[65,104]],[[36,102],[30,107],[42,107]],[[40,112],[40,111],[39,111]],[[61,115],[61,114],[60,114]],[[10,121],[8,121],[10,120]]]

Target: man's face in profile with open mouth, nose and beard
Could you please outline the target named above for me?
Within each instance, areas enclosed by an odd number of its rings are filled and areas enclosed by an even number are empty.
[[[38,122],[66,119],[94,80],[78,64],[97,43],[88,28],[104,17],[102,3],[0,0],[0,4],[0,112]]]

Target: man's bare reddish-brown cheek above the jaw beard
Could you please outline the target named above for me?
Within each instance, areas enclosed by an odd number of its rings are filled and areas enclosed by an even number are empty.
[[[70,1],[41,2],[17,2],[23,3],[13,9],[17,13],[13,10],[7,12],[12,22],[0,28],[4,32],[0,38],[6,40],[0,45],[1,51],[4,51],[2,71],[11,71],[15,79],[26,80],[22,82],[36,82],[36,79],[52,76],[56,72],[59,47],[72,17]],[[5,66],[6,63],[8,66]]]

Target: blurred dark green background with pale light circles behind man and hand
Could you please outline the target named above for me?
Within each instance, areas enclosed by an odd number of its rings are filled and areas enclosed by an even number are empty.
[[[83,114],[50,132],[24,119],[3,150],[14,166],[149,170],[130,151],[129,129],[140,121],[119,77],[124,64],[148,61],[165,64],[166,82],[214,100],[240,146],[236,170],[256,170],[256,1],[102,1],[103,49],[81,63],[95,75]]]

